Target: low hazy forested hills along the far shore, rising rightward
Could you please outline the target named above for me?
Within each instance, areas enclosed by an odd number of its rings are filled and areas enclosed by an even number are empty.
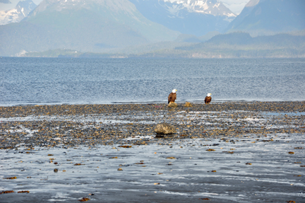
[[[187,36],[186,36],[187,37]],[[168,45],[169,47],[169,45]],[[56,55],[57,53],[57,55]],[[60,56],[59,56],[60,53]],[[277,34],[251,37],[249,33],[216,35],[206,42],[191,42],[179,47],[150,50],[150,52],[104,54],[53,50],[27,53],[25,57],[158,57],[158,58],[288,58],[305,57],[305,35]]]

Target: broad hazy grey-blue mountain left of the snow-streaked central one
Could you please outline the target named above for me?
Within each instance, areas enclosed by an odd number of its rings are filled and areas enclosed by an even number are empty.
[[[20,23],[0,26],[0,54],[57,48],[107,52],[178,35],[144,18],[127,0],[44,0]]]

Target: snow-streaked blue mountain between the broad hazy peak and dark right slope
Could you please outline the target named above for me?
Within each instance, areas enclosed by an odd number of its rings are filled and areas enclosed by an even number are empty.
[[[222,32],[236,15],[217,0],[129,0],[145,18],[171,30],[201,36]]]

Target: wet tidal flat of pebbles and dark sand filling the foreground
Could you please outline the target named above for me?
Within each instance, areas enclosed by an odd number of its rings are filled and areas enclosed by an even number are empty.
[[[0,107],[0,202],[304,202],[304,120],[305,101]]]

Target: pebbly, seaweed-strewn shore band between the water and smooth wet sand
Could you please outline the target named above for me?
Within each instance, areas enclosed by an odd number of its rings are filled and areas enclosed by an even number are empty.
[[[178,108],[165,103],[27,105],[0,110],[0,149],[14,148],[14,143],[23,141],[30,146],[73,146],[82,139],[90,145],[126,144],[127,137],[155,137],[153,127],[161,122],[177,128],[177,134],[167,139],[305,132],[305,101],[192,103],[192,107],[179,103]],[[280,115],[285,112],[289,116]]]

